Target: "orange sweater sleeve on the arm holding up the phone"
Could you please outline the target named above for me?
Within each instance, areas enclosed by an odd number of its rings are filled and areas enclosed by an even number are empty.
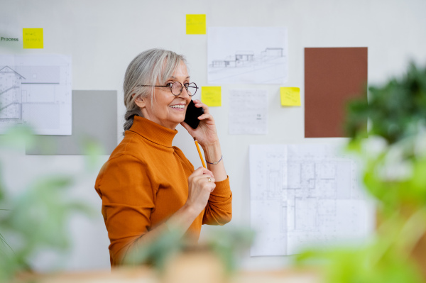
[[[203,224],[224,225],[232,218],[232,192],[229,187],[229,177],[224,181],[216,182],[216,188],[210,194],[204,216]]]

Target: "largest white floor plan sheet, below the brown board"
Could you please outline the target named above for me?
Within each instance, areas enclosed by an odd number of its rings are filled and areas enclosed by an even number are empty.
[[[251,256],[363,240],[372,208],[337,145],[250,145]]]

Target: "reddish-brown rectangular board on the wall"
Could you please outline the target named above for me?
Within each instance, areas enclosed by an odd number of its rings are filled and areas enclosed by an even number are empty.
[[[346,103],[367,78],[367,48],[305,48],[305,138],[344,137]]]

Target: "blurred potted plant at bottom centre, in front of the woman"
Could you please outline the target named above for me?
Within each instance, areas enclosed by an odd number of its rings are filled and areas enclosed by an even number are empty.
[[[153,242],[135,248],[126,258],[126,265],[153,267],[165,283],[228,282],[237,270],[237,253],[249,248],[254,234],[249,228],[221,227],[198,244],[181,235],[182,231],[172,228]]]

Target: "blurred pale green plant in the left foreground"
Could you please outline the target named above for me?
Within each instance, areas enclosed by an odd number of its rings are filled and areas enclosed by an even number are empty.
[[[1,135],[0,150],[31,146],[34,140],[31,128],[11,128]],[[6,191],[3,179],[0,171],[0,282],[7,282],[16,274],[31,272],[29,260],[40,250],[67,250],[70,216],[92,211],[70,198],[67,189],[75,176],[40,177],[17,196]]]

